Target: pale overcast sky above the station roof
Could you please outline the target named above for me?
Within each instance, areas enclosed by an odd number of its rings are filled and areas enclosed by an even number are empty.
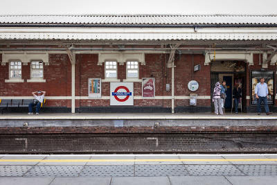
[[[277,0],[0,0],[0,14],[277,14]]]

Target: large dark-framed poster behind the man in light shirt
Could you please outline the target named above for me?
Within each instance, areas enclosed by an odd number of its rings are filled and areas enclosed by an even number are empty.
[[[274,72],[273,71],[251,71],[251,104],[257,104],[257,98],[255,97],[255,88],[260,78],[265,78],[265,83],[267,83],[269,98],[268,104],[274,104]]]

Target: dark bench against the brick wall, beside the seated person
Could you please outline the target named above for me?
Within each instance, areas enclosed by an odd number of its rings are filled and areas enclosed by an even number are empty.
[[[0,108],[3,114],[4,109],[8,110],[9,107],[17,107],[17,108],[28,107],[29,104],[33,102],[34,102],[33,99],[8,99],[8,100],[3,99],[3,100],[0,100]],[[46,103],[46,100],[44,99],[41,107],[44,107],[45,103]]]

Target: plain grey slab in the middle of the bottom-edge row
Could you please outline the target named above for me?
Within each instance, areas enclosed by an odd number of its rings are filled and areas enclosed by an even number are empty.
[[[168,177],[113,177],[111,185],[170,185]]]

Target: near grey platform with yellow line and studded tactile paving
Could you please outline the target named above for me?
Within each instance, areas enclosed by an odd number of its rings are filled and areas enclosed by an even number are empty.
[[[0,185],[276,184],[277,155],[0,155]]]

